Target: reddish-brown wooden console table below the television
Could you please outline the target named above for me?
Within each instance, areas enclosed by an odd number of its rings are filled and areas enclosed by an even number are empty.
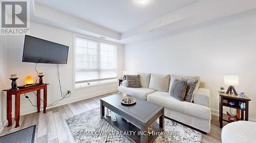
[[[35,84],[31,87],[17,89],[17,90],[3,90],[6,91],[7,95],[7,121],[8,126],[12,125],[12,95],[15,95],[15,128],[19,127],[19,108],[20,108],[20,94],[25,94],[33,91],[37,91],[37,112],[40,112],[40,90],[44,90],[44,113],[46,113],[47,107],[47,83],[44,84]]]

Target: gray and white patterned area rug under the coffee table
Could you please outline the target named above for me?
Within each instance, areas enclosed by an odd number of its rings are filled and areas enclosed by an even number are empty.
[[[70,128],[74,140],[77,143],[131,142],[125,135],[113,134],[113,132],[115,133],[117,132],[117,130],[104,119],[100,119],[99,108],[83,112],[79,115],[75,115],[69,119],[66,119],[66,122]],[[202,133],[167,118],[164,119],[164,128],[164,132],[179,132],[179,134],[158,136],[155,142],[201,142]],[[111,134],[100,134],[99,132],[101,131],[107,131]]]

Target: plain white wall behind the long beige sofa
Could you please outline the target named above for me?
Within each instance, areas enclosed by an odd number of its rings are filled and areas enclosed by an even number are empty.
[[[124,46],[129,73],[199,75],[211,91],[218,114],[224,75],[238,75],[246,92],[249,118],[256,121],[256,12],[250,11]],[[170,103],[171,104],[171,103]]]

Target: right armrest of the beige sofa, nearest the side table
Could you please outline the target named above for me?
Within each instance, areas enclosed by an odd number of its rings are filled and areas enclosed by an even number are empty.
[[[194,95],[194,103],[210,107],[210,90],[199,88]]]

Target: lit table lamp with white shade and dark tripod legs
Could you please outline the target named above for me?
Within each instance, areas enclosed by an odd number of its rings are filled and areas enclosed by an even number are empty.
[[[238,85],[238,83],[239,83],[239,78],[238,78],[238,76],[236,76],[236,75],[225,75],[224,76],[224,83],[226,84],[226,85],[229,85],[229,87],[228,87],[228,89],[227,89],[227,92],[226,92],[226,94],[228,94],[228,93],[232,93],[232,91],[233,91],[233,93],[235,94],[235,95],[238,95],[237,94],[237,91],[234,89],[234,85]]]

